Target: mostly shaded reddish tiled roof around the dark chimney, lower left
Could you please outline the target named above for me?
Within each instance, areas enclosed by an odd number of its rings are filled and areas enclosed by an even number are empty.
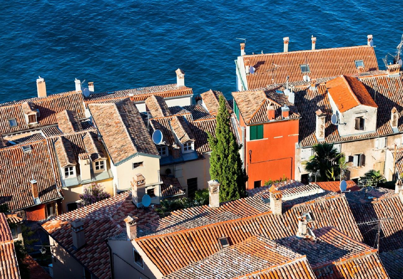
[[[105,242],[126,232],[123,221],[127,215],[137,218],[141,229],[149,222],[156,222],[158,214],[152,208],[137,208],[131,194],[122,193],[89,206],[59,215],[42,225],[44,230],[99,279],[111,277],[109,250]],[[71,222],[81,219],[84,223],[86,244],[76,250],[71,239]],[[88,260],[91,259],[91,260]]]

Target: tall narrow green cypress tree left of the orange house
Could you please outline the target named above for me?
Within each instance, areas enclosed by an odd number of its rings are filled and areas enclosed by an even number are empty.
[[[240,146],[230,128],[230,115],[223,96],[219,97],[216,136],[209,134],[208,142],[212,150],[210,156],[210,176],[220,185],[220,202],[237,200],[245,195],[245,171],[239,155]]]

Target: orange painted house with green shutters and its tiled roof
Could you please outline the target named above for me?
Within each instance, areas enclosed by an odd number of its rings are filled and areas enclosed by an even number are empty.
[[[294,93],[284,88],[233,92],[241,159],[247,173],[247,189],[283,176],[294,179],[295,144],[300,115]]]

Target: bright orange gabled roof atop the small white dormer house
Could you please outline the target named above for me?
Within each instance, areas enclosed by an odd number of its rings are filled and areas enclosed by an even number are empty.
[[[378,107],[368,89],[355,77],[341,75],[326,82],[326,88],[340,112],[360,104]]]

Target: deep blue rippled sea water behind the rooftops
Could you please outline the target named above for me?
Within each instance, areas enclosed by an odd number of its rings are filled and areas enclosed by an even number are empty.
[[[175,83],[186,73],[195,94],[235,90],[240,40],[246,52],[366,44],[374,35],[381,60],[401,40],[401,1],[2,1],[0,102],[36,96],[38,75],[48,94],[74,90],[74,79],[96,92]],[[389,57],[389,61],[391,61]]]

